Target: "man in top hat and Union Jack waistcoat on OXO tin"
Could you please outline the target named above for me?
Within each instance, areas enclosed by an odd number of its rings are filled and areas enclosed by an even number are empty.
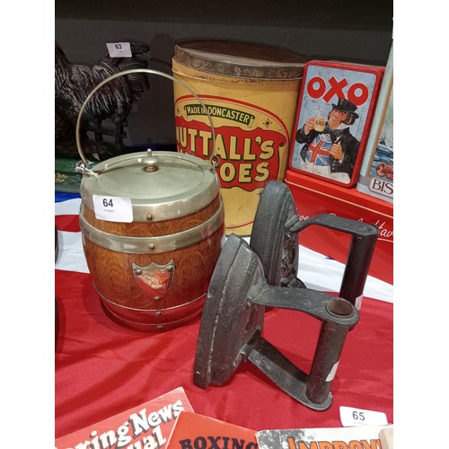
[[[360,142],[349,132],[358,119],[357,106],[339,98],[326,119],[317,115],[306,120],[296,133],[301,149],[301,169],[348,184],[352,178]]]

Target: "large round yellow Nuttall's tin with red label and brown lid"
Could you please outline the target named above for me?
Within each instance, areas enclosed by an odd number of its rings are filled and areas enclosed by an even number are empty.
[[[250,235],[261,190],[284,180],[305,62],[251,42],[186,40],[175,47],[173,77],[198,93],[213,120],[226,234]],[[177,149],[208,159],[207,113],[182,86],[173,87]]]

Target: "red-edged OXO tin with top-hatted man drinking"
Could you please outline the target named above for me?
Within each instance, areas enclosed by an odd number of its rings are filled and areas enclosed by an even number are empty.
[[[313,60],[304,66],[290,168],[357,183],[383,67]]]

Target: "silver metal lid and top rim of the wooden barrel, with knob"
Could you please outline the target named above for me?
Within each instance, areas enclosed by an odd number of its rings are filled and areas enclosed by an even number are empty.
[[[191,154],[151,150],[124,154],[96,164],[91,172],[81,183],[83,204],[97,213],[99,201],[107,207],[112,199],[110,204],[115,200],[132,210],[132,219],[115,221],[188,216],[207,207],[219,192],[212,165]]]

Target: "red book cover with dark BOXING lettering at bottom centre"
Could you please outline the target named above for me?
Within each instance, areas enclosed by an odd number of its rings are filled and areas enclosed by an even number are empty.
[[[185,411],[176,420],[167,447],[256,449],[257,440],[254,430]]]

